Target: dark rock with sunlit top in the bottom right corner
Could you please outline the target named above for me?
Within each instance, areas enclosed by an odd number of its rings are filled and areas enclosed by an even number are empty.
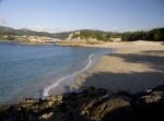
[[[162,86],[161,86],[162,87]],[[160,88],[161,88],[160,87]],[[164,87],[164,86],[163,86]],[[147,94],[138,97],[132,106],[141,121],[163,121],[164,117],[164,89],[148,89]]]

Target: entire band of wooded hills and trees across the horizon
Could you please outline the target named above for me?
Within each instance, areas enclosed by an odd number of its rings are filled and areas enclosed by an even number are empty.
[[[61,40],[69,37],[70,34],[80,32],[80,34],[73,34],[72,38],[96,38],[97,40],[110,41],[112,38],[121,38],[122,41],[132,40],[153,40],[153,41],[164,41],[164,27],[154,28],[151,31],[138,31],[138,32],[103,32],[96,29],[79,29],[74,32],[62,32],[62,33],[47,33],[47,32],[35,32],[26,28],[14,29],[7,26],[0,26],[0,38],[3,36],[44,36],[50,38],[59,38]]]

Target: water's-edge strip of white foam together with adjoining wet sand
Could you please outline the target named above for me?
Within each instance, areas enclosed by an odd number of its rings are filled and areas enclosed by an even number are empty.
[[[107,55],[110,55],[110,53],[112,53],[112,51],[109,51]],[[45,89],[44,97],[54,96],[54,95],[62,96],[65,94],[71,93],[71,92],[80,92],[81,89],[72,90],[70,88],[70,84],[73,83],[77,75],[91,69],[101,57],[102,57],[102,55],[101,56],[97,56],[95,53],[90,55],[90,57],[87,58],[89,62],[82,70],[71,73],[70,75],[63,76],[63,77],[59,78],[52,85],[48,86]]]

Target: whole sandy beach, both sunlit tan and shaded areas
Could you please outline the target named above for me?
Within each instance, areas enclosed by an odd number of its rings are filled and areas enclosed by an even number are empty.
[[[97,47],[97,45],[96,45]],[[117,51],[103,56],[95,65],[75,77],[71,89],[90,86],[108,92],[140,92],[164,84],[164,43],[107,43],[104,48]]]

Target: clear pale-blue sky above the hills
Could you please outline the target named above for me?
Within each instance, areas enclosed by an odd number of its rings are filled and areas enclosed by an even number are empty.
[[[164,0],[0,0],[0,25],[50,33],[164,27]]]

